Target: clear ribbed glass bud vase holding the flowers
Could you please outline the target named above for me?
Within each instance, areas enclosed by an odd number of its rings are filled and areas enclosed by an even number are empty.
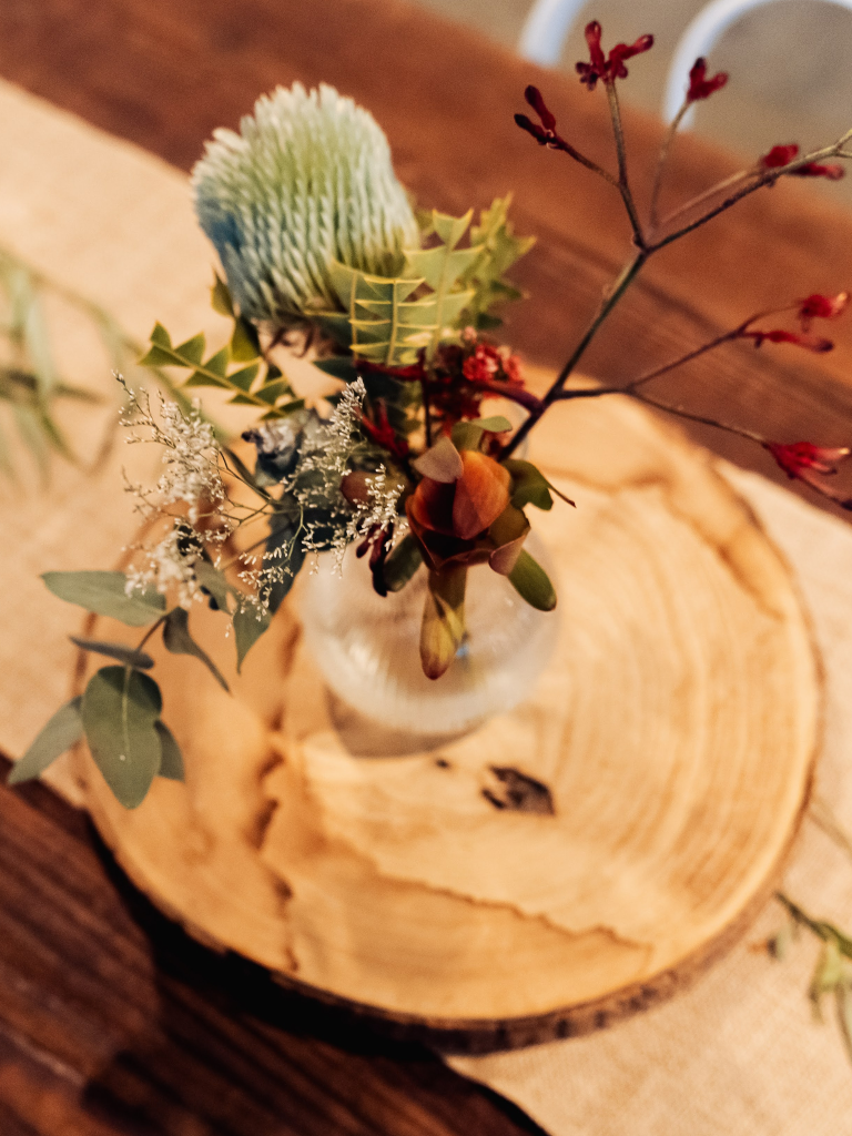
[[[531,553],[550,569],[531,536]],[[361,718],[387,730],[436,737],[459,734],[521,702],[556,644],[559,615],[536,611],[487,565],[469,569],[467,635],[437,679],[420,668],[426,595],[420,568],[401,592],[382,598],[366,562],[350,548],[342,576],[331,554],[307,576],[300,613],[306,642],[328,687]]]

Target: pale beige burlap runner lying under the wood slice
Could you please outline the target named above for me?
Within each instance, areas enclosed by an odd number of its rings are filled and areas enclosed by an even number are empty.
[[[0,84],[0,244],[107,307],[144,339],[156,318],[176,335],[225,324],[207,303],[210,251],[186,181],[154,158]],[[92,337],[57,310],[64,371],[115,399]],[[62,320],[66,319],[65,323]],[[218,325],[218,326],[217,326]],[[112,412],[108,403],[101,419]],[[78,417],[92,452],[103,423]],[[112,562],[135,527],[120,448],[98,476],[62,467],[48,492],[0,484],[0,749],[18,754],[67,696],[75,609],[43,603],[37,575]],[[852,828],[852,531],[751,474],[728,470],[794,565],[827,674],[817,792]],[[852,922],[852,864],[805,824],[791,894]],[[746,941],[674,1001],[608,1031],[518,1053],[453,1058],[554,1136],[833,1136],[852,1133],[852,1068],[834,1022],[804,992],[816,944],[783,962],[760,944],[782,921],[768,908]]]

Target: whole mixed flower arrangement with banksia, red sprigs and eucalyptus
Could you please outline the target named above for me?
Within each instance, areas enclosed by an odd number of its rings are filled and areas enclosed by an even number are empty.
[[[567,154],[619,193],[633,248],[543,395],[527,389],[517,357],[487,337],[500,323],[494,309],[519,298],[506,274],[533,243],[515,234],[508,198],[483,209],[476,222],[473,209],[461,217],[415,211],[379,126],[329,86],[279,89],[258,101],[239,134],[216,132],[192,187],[199,222],[224,270],[215,278],[212,303],[233,321],[229,341],[209,352],[202,334],[174,343],[157,324],[141,362],[179,371],[182,402],[161,395],[152,404],[144,391],[125,387],[130,440],[152,441],[162,451],[158,484],[128,485],[145,535],[126,571],[44,576],[59,598],[147,629],[133,649],[74,640],[111,662],[51,718],[11,780],[37,776],[83,736],[127,808],[144,799],[157,775],[182,777],[179,750],[160,719],[160,691],[149,674],[153,660],[144,648],[151,636],[160,633],[167,650],[193,655],[227,688],[192,637],[193,607],[206,603],[227,616],[239,669],[303,566],[326,552],[340,562],[350,545],[366,559],[379,595],[427,574],[420,659],[425,674],[440,679],[465,640],[465,594],[476,586],[471,567],[487,565],[506,576],[540,610],[557,603],[551,580],[524,544],[528,507],[549,510],[561,494],[519,456],[556,402],[618,393],[707,421],[655,399],[653,381],[734,340],[757,349],[830,350],[813,325],[843,312],[845,292],[752,315],[623,386],[570,383],[586,348],[654,253],[780,177],[834,179],[843,169],[829,159],[852,157],[845,149],[852,132],[809,154],[776,145],[660,218],[660,186],[680,119],[727,80],[708,76],[699,59],[665,139],[644,219],[628,176],[617,84],[627,77],[626,62],[648,51],[653,37],[604,53],[593,22],[586,41],[590,59],[577,72],[590,92],[599,84],[604,90],[617,173],[559,133],[536,87],[526,90],[535,119],[518,114],[516,122],[541,147]],[[786,323],[779,325],[779,317]],[[308,354],[334,391],[312,403],[300,395],[287,378],[287,350]],[[201,387],[257,411],[243,448],[219,437],[200,406],[189,403],[187,394]],[[495,399],[517,408],[520,425],[486,406]],[[852,508],[830,483],[847,449],[711,425],[766,448],[790,477]]]

